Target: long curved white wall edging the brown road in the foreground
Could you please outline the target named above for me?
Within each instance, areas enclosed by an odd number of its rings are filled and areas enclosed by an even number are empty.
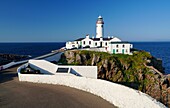
[[[20,81],[57,84],[87,91],[119,108],[166,108],[147,94],[112,82],[66,75],[31,75],[18,73]]]

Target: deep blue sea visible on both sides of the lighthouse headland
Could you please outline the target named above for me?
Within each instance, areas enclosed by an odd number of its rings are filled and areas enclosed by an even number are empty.
[[[170,74],[170,42],[132,42],[132,44],[134,48],[145,50],[162,59],[165,73]],[[65,42],[0,43],[0,53],[37,57],[64,46]]]

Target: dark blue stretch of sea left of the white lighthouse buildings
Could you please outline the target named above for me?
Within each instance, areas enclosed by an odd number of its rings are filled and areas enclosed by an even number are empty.
[[[50,53],[65,46],[65,42],[58,43],[0,43],[0,53],[30,55],[32,57]]]

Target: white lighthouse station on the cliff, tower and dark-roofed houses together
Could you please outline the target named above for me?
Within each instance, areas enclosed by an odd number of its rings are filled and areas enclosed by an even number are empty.
[[[98,17],[96,22],[96,38],[90,38],[86,35],[85,38],[79,38],[72,42],[66,42],[66,49],[78,49],[78,48],[103,48],[104,52],[114,54],[131,54],[130,49],[133,47],[129,42],[121,41],[117,37],[104,38],[104,21],[101,16]]]

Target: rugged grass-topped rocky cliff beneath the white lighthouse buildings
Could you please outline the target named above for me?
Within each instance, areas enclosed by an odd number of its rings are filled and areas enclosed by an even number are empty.
[[[140,90],[170,106],[170,76],[162,74],[164,68],[161,60],[157,60],[147,52],[113,55],[72,50],[65,51],[59,62],[68,65],[96,65],[98,78]]]

